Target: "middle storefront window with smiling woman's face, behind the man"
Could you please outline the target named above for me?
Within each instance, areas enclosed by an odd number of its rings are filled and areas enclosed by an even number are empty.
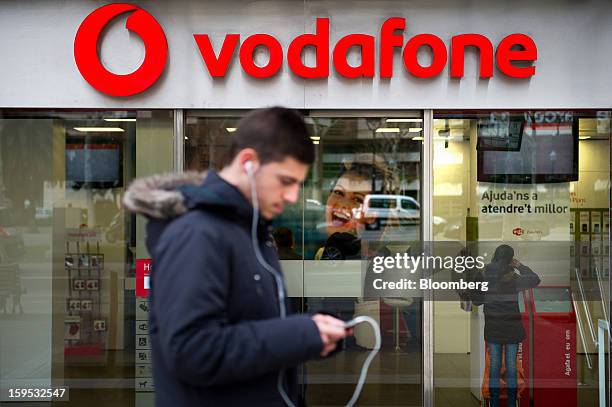
[[[420,243],[422,117],[305,119],[316,161],[300,201],[275,220],[273,232],[294,309],[375,318],[383,348],[360,402],[420,405],[421,301],[367,298],[362,264],[371,253],[405,252]],[[220,169],[238,120],[189,113],[186,168]],[[338,355],[304,366],[307,402],[346,404],[373,340],[371,328],[360,327]]]

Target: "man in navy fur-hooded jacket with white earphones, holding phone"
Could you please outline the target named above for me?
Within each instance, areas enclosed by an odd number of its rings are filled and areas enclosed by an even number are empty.
[[[300,405],[295,367],[352,333],[287,309],[271,220],[297,201],[313,161],[302,117],[268,108],[241,120],[220,172],[152,177],[126,193],[151,219],[158,407]]]

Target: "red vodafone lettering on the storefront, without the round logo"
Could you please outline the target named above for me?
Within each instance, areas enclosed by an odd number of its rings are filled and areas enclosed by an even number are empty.
[[[386,20],[380,28],[379,42],[379,75],[390,78],[393,75],[393,54],[396,48],[403,48],[403,62],[406,70],[419,78],[432,78],[439,75],[445,68],[448,50],[442,39],[433,34],[418,34],[408,39],[404,46],[403,31],[406,20],[393,17]],[[287,49],[289,69],[302,78],[326,78],[330,73],[330,51],[333,67],[346,78],[373,78],[375,75],[375,44],[377,39],[372,35],[349,34],[342,37],[333,48],[329,41],[330,21],[328,18],[317,18],[317,28],[314,34],[302,34],[296,37]],[[275,75],[283,64],[283,48],[281,43],[269,34],[253,34],[241,42],[240,34],[227,34],[218,54],[212,47],[207,34],[194,35],[204,64],[213,77],[223,77],[234,55],[239,48],[240,65],[245,73],[255,78],[268,78]],[[270,59],[265,66],[258,66],[253,61],[253,51],[257,47],[265,47]],[[316,63],[306,66],[302,62],[302,51],[305,47],[316,50]],[[347,62],[348,50],[358,47],[361,50],[361,63],[351,66]],[[421,47],[429,47],[433,58],[429,66],[420,65],[417,52]],[[453,78],[463,77],[464,55],[466,47],[475,47],[480,51],[480,77],[493,76],[493,44],[487,37],[480,34],[461,34],[451,39],[450,74]],[[517,49],[520,48],[520,49]],[[525,34],[510,34],[501,40],[497,46],[495,60],[498,69],[512,78],[528,78],[535,74],[534,66],[518,67],[517,62],[533,63],[538,56],[534,41]]]

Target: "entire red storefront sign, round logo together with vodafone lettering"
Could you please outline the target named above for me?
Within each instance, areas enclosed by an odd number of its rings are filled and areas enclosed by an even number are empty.
[[[117,15],[128,11],[133,14],[128,18],[127,28],[140,35],[144,41],[145,60],[132,74],[117,75],[102,66],[97,43],[102,28]],[[480,78],[492,77],[494,64],[507,77],[529,78],[535,74],[533,63],[537,60],[538,50],[531,37],[525,34],[506,36],[496,49],[484,35],[460,34],[453,36],[450,47],[447,47],[434,34],[417,34],[405,41],[406,20],[392,17],[382,23],[378,38],[366,34],[349,34],[331,44],[330,26],[328,18],[317,18],[315,32],[297,36],[286,49],[271,34],[252,34],[245,38],[237,33],[226,34],[217,50],[208,34],[194,34],[193,37],[204,66],[213,78],[226,76],[236,58],[236,51],[242,70],[254,78],[276,75],[284,64],[285,56],[292,74],[302,78],[327,78],[332,68],[346,78],[374,78],[376,75],[391,78],[397,50],[401,51],[405,70],[415,77],[436,77],[450,64],[450,76],[462,78],[467,47],[479,52]],[[254,52],[260,47],[265,48],[269,55],[265,65],[258,65],[254,60]],[[314,65],[303,62],[302,54],[307,47],[315,51]],[[429,49],[432,55],[427,66],[421,65],[417,59],[417,53],[422,48]],[[349,64],[347,54],[350,49],[359,50],[361,59],[358,65]],[[159,78],[166,64],[168,50],[163,30],[150,14],[133,5],[111,4],[95,10],[83,21],[75,38],[74,52],[79,71],[94,88],[113,96],[129,96],[144,91]],[[519,62],[520,66],[515,65],[515,62]]]

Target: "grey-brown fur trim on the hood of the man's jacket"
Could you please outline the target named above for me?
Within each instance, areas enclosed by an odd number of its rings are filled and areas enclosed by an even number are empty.
[[[204,179],[206,172],[195,171],[138,178],[128,187],[123,204],[149,218],[175,218],[188,210],[181,188],[201,185]]]

